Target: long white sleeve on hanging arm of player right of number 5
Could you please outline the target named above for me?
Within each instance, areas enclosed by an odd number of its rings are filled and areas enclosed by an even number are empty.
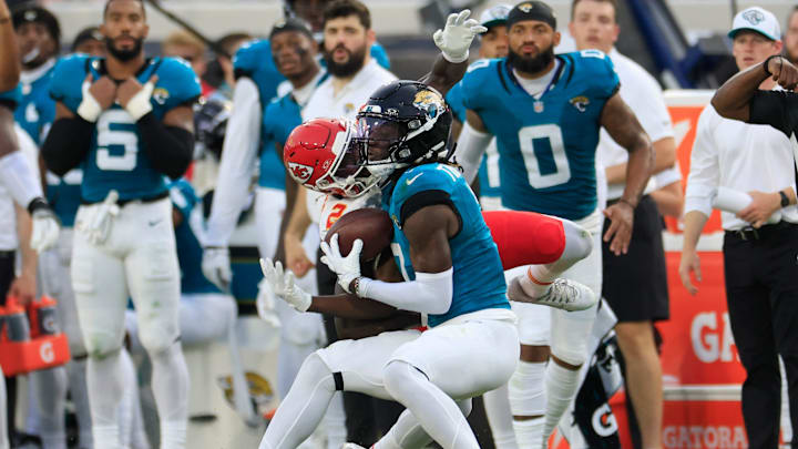
[[[249,78],[238,79],[222,150],[206,245],[227,246],[227,241],[235,231],[257,157],[260,115],[255,82]]]

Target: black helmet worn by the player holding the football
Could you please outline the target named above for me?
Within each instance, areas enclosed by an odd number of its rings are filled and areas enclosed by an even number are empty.
[[[438,160],[447,151],[452,112],[437,90],[418,81],[379,88],[357,114],[351,146],[372,175]]]

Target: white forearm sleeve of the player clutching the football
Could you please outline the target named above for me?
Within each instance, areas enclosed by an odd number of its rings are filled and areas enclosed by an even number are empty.
[[[359,296],[378,300],[402,310],[422,314],[446,314],[454,294],[454,268],[441,273],[416,273],[416,280],[386,283],[360,278]]]

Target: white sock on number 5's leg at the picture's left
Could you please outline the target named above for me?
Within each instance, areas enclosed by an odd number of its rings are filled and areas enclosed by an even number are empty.
[[[120,448],[116,410],[123,394],[120,353],[89,358],[86,385],[91,404],[94,447]]]

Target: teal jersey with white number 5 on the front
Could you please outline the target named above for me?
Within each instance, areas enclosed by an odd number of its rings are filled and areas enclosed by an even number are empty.
[[[98,80],[105,73],[104,60],[83,54],[68,57],[55,65],[50,94],[69,110],[76,112],[83,100],[81,85],[86,74]],[[191,65],[175,58],[152,58],[136,74],[146,83],[157,74],[150,100],[158,120],[172,109],[196,101],[201,94],[200,80]],[[141,136],[133,118],[114,103],[96,121],[91,147],[83,161],[82,200],[101,202],[111,190],[120,200],[154,197],[166,192],[165,176],[152,167],[142,149]]]

